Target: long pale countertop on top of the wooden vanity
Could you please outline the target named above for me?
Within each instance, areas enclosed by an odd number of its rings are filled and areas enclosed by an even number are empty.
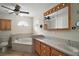
[[[62,51],[68,55],[71,56],[78,56],[79,55],[79,50],[75,47],[69,46],[66,43],[64,43],[63,41],[57,41],[55,40],[56,38],[52,38],[54,40],[48,39],[48,38],[35,38],[38,41],[41,41],[51,47],[54,47],[55,49]]]

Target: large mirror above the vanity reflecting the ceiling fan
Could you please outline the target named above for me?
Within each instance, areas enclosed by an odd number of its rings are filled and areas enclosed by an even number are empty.
[[[70,8],[64,7],[54,13],[45,16],[44,24],[48,30],[69,29],[70,28]]]

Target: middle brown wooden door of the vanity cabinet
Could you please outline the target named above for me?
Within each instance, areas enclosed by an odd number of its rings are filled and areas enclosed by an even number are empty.
[[[41,43],[41,56],[50,56],[50,47]]]

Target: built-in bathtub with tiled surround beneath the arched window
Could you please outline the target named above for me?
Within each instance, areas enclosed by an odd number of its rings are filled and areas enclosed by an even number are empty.
[[[12,50],[32,52],[32,35],[13,36]]]

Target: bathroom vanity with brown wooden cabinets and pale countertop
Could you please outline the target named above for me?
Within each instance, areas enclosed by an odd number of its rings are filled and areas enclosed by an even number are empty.
[[[34,52],[39,56],[75,56],[78,50],[75,47],[53,42],[46,38],[33,39]]]

